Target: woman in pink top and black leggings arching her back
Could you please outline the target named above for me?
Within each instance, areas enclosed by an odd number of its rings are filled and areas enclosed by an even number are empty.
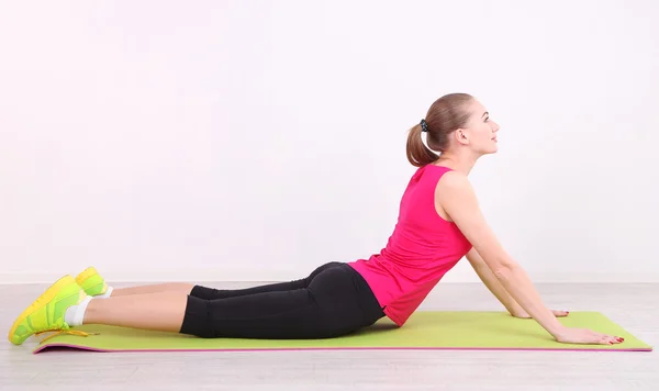
[[[567,313],[543,304],[485,223],[467,176],[479,157],[496,152],[498,131],[469,94],[435,101],[407,137],[407,159],[417,170],[402,197],[398,224],[387,246],[369,259],[328,262],[301,280],[242,290],[189,283],[112,290],[90,268],[55,282],[19,316],[9,339],[18,345],[35,333],[81,324],[243,338],[336,337],[383,316],[403,326],[466,256],[512,315],[533,317],[556,340],[621,343],[615,336],[562,326],[557,316]],[[439,156],[424,145],[424,132]]]

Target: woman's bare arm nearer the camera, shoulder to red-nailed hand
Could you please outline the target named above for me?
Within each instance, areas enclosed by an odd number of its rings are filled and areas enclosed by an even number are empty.
[[[537,290],[524,269],[503,249],[499,239],[485,222],[478,200],[467,180],[457,171],[444,175],[436,197],[442,208],[460,228],[473,248],[482,256],[496,280],[538,324],[559,342],[601,343],[619,342],[615,337],[589,329],[563,326],[545,306]]]

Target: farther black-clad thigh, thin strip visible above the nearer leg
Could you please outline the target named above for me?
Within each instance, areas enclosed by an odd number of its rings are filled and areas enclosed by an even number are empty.
[[[245,289],[214,289],[202,286],[194,286],[192,291],[190,291],[190,295],[203,299],[203,300],[217,300],[217,299],[228,299],[228,298],[237,298],[244,295],[252,295],[257,293],[268,293],[268,292],[280,292],[280,291],[291,291],[297,289],[303,289],[309,287],[309,283],[322,271],[333,268],[340,265],[339,262],[327,262],[317,267],[315,270],[303,279],[292,280],[287,282],[275,282],[268,283],[258,287],[250,287]]]

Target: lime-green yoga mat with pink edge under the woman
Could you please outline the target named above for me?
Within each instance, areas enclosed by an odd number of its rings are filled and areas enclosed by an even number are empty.
[[[597,312],[573,312],[559,319],[570,327],[587,327],[625,338],[622,344],[570,345],[555,342],[534,320],[504,312],[416,312],[403,327],[382,319],[351,335],[330,339],[205,339],[176,333],[148,332],[114,326],[85,325],[43,342],[34,353],[51,348],[92,351],[176,350],[302,350],[302,349],[499,349],[650,351],[652,348]]]

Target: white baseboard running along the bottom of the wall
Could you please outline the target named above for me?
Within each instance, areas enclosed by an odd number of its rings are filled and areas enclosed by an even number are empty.
[[[81,270],[69,271],[75,273]],[[231,281],[231,282],[264,282],[289,281],[305,277],[311,270],[100,270],[110,282],[164,282],[164,281]],[[60,272],[0,272],[0,284],[12,283],[52,283],[59,279]],[[599,272],[533,272],[528,275],[535,283],[659,283],[659,271],[599,271]],[[459,269],[447,273],[444,283],[480,282],[478,276],[470,269]]]

